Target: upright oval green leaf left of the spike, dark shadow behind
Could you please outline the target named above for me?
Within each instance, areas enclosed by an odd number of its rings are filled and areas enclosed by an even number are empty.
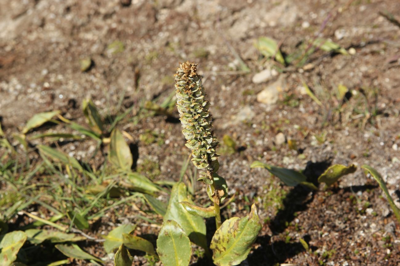
[[[117,168],[128,171],[133,164],[132,154],[124,136],[118,129],[114,129],[110,136],[110,153],[108,160]]]

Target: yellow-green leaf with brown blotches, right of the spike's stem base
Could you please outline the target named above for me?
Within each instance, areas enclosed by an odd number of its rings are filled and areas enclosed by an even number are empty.
[[[232,217],[224,221],[211,240],[214,264],[230,266],[245,260],[261,228],[254,204],[248,216],[242,219]]]

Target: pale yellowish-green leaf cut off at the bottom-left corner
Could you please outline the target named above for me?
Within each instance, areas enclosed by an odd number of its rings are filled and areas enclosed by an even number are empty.
[[[26,241],[23,231],[0,235],[0,266],[9,266],[17,258],[18,251]]]

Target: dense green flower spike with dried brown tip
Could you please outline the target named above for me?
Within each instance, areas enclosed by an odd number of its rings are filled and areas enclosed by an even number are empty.
[[[176,106],[182,122],[182,133],[186,147],[192,150],[192,162],[198,169],[218,170],[218,142],[211,131],[212,119],[208,113],[210,103],[204,99],[206,93],[202,78],[196,73],[197,64],[182,63],[175,75]]]

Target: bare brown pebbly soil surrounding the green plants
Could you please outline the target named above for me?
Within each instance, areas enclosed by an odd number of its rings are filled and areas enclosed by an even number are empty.
[[[224,152],[223,144],[220,148],[218,173],[226,178],[230,193],[236,193],[234,203],[223,211],[224,219],[246,215],[255,202],[264,222],[242,265],[400,264],[399,223],[382,190],[360,168],[316,192],[285,187],[266,170],[250,169],[254,160],[306,168],[312,180],[331,164],[369,164],[382,174],[399,204],[400,28],[379,14],[389,11],[399,20],[399,1],[122,2],[0,0],[0,119],[6,134],[21,130],[35,113],[56,109],[84,123],[85,98],[93,99],[104,115],[116,114],[120,99],[122,110],[133,105],[134,112],[146,100],[159,97],[160,104],[174,91],[178,62],[195,61],[212,104],[215,134],[220,142],[227,134],[237,145],[233,153]],[[254,48],[256,38],[272,37],[289,54],[316,33],[351,48],[352,55],[319,50],[303,68],[289,66],[271,81],[252,82],[254,74],[271,64]],[[249,74],[242,73],[238,56]],[[81,72],[84,58],[90,58],[92,66]],[[258,102],[257,94],[275,80],[282,82],[278,101]],[[304,94],[303,81],[321,106]],[[332,97],[339,84],[350,90],[343,104]],[[177,118],[174,109],[170,116],[119,125],[133,137],[136,170],[151,172],[154,180],[178,179],[188,150]],[[140,138],[149,132],[161,141]],[[297,141],[298,151],[277,144],[280,132],[286,140]],[[85,160],[93,146],[85,141],[61,148]],[[100,166],[103,160],[99,156],[90,164]],[[196,201],[206,202],[202,184],[197,188],[202,190]],[[272,199],[277,203],[271,204]],[[137,213],[119,208],[121,217]],[[110,213],[86,233],[106,233],[110,223],[122,222]],[[139,234],[157,233],[157,228],[139,224]],[[215,227],[213,221],[208,225],[210,236]],[[82,247],[106,256],[101,243]],[[146,264],[143,254],[137,255],[134,265]],[[193,265],[209,263],[200,259]],[[74,260],[71,265],[84,264]]]

